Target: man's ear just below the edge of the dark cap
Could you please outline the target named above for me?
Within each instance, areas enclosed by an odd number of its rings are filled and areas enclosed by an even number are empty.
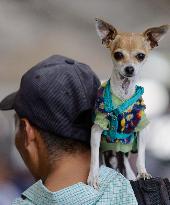
[[[33,140],[35,140],[35,129],[26,118],[21,119],[20,129],[24,132],[24,143],[27,147]]]

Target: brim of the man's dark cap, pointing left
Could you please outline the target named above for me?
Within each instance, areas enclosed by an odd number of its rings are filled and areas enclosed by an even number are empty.
[[[18,92],[12,93],[0,102],[0,110],[13,110],[14,102]]]

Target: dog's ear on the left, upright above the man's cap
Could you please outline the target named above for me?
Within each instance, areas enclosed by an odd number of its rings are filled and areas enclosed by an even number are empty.
[[[96,18],[96,31],[106,47],[108,47],[109,42],[114,40],[117,35],[117,30],[112,25],[98,18]]]

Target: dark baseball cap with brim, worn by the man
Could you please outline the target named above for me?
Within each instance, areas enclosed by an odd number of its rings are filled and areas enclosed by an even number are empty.
[[[99,86],[88,65],[53,55],[23,75],[19,90],[0,102],[0,110],[14,109],[43,131],[89,143]]]

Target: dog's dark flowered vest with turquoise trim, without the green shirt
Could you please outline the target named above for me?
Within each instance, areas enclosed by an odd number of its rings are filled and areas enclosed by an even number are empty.
[[[136,86],[135,94],[116,106],[112,102],[110,80],[99,88],[95,109],[106,114],[106,118],[109,120],[108,130],[104,130],[102,133],[102,137],[106,138],[107,142],[129,144],[135,137],[135,128],[146,108],[142,99],[143,93],[144,88]]]

